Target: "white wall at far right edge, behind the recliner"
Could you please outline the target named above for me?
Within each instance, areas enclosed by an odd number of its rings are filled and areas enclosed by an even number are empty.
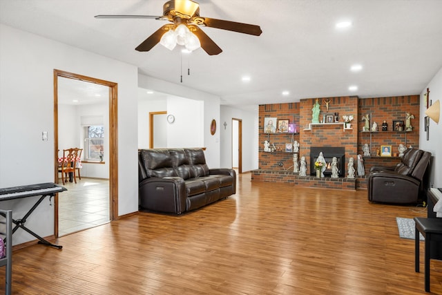
[[[427,133],[425,133],[424,117],[427,109],[425,104],[424,93],[430,88],[430,100],[439,102],[442,100],[442,68],[439,70],[430,83],[425,87],[421,93],[421,122],[419,122],[419,146],[425,151],[429,151],[434,156],[432,163],[432,171],[430,176],[430,184],[434,187],[442,187],[442,116],[439,124],[436,124],[430,119],[430,139],[427,141]]]

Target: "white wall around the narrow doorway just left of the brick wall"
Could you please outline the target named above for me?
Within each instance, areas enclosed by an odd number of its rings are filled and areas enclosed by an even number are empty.
[[[221,106],[220,142],[222,167],[232,166],[232,118],[242,120],[242,172],[258,169],[258,106],[254,111],[244,111]],[[227,123],[224,129],[224,122]]]

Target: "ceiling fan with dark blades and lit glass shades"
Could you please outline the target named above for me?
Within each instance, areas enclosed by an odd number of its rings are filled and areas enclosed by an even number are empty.
[[[202,48],[209,55],[218,55],[222,49],[204,33],[199,26],[230,30],[244,34],[259,36],[262,33],[260,26],[248,23],[237,23],[235,21],[224,21],[222,19],[211,19],[200,17],[200,5],[192,0],[171,0],[163,5],[163,15],[155,17],[152,15],[95,15],[97,19],[157,19],[171,21],[146,40],[135,50],[148,51],[158,43],[169,50],[173,50],[176,44],[185,46],[192,51]]]

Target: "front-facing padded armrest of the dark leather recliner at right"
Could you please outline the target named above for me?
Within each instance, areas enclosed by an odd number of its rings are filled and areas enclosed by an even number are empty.
[[[373,202],[409,204],[417,202],[421,182],[394,172],[376,172],[368,176],[368,199]]]

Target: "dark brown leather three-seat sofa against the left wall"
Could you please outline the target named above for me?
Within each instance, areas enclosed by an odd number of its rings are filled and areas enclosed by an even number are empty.
[[[236,193],[233,169],[209,169],[202,149],[138,151],[140,208],[181,214]]]

